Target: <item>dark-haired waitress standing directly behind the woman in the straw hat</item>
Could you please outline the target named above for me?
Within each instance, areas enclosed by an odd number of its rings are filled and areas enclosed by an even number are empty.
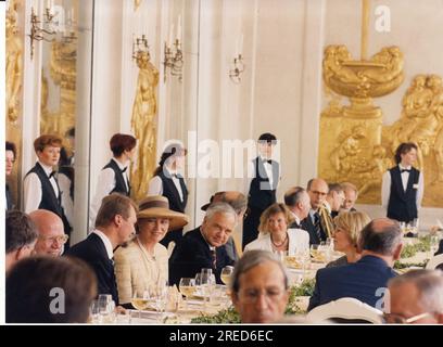
[[[160,158],[159,167],[154,177],[149,182],[148,195],[163,195],[169,201],[169,208],[177,213],[185,213],[188,203],[188,189],[183,177],[179,174],[185,167],[185,156],[188,151],[180,143],[172,143],[166,146]],[[176,244],[183,236],[183,230],[169,231],[161,241],[165,247],[169,242]]]

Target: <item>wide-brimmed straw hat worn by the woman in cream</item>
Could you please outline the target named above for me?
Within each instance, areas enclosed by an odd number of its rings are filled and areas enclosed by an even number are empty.
[[[167,197],[162,195],[151,195],[140,202],[137,219],[143,218],[167,218],[169,230],[180,229],[189,222],[187,215],[169,209]]]

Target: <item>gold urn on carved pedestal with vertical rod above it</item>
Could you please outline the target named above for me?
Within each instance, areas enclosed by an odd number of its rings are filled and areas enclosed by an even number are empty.
[[[379,203],[381,177],[390,167],[382,144],[382,111],[374,98],[392,93],[404,81],[404,57],[384,47],[368,57],[369,0],[362,0],[362,49],[355,60],[343,44],[325,49],[322,77],[331,101],[320,117],[319,176],[353,182],[359,203]],[[349,100],[347,105],[341,99]]]

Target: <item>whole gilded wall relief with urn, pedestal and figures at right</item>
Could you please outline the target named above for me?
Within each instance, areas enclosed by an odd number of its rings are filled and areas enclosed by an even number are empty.
[[[382,126],[372,99],[389,94],[403,81],[403,56],[383,48],[370,61],[352,61],[344,46],[325,51],[324,80],[330,102],[320,117],[319,176],[350,181],[360,191],[358,203],[380,204],[381,178],[394,165],[402,142],[419,146],[417,166],[425,174],[423,206],[443,207],[443,82],[418,75],[403,98],[397,121]],[[342,97],[350,99],[345,105]]]

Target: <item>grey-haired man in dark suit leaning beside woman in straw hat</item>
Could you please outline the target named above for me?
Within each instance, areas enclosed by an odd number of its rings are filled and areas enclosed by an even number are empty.
[[[202,269],[212,269],[216,282],[223,284],[221,269],[233,265],[224,245],[237,223],[237,214],[226,203],[212,204],[201,227],[186,233],[169,258],[169,284],[181,278],[193,278]]]

